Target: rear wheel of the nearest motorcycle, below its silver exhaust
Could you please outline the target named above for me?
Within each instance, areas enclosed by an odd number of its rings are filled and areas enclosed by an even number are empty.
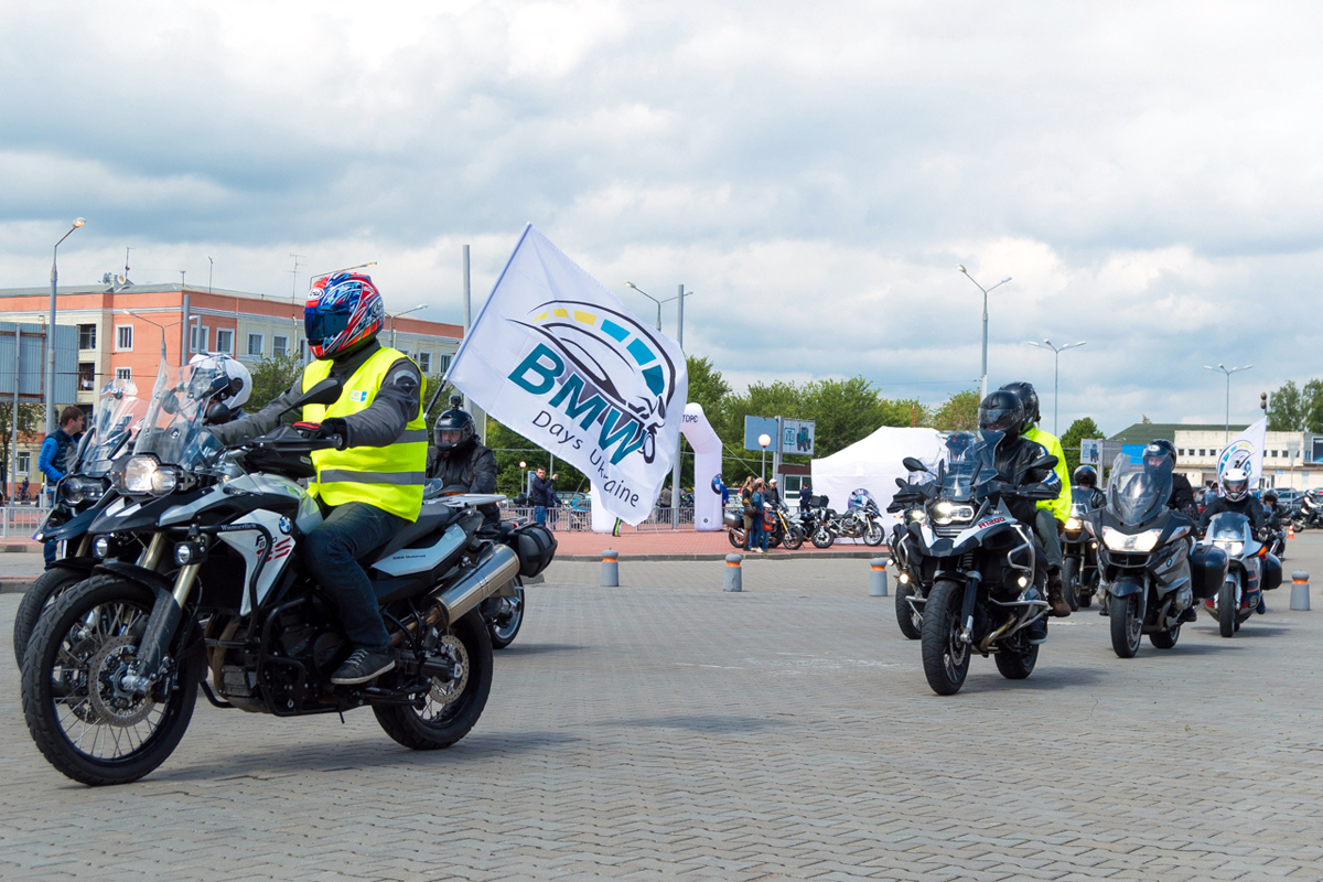
[[[492,688],[492,644],[476,610],[439,633],[433,656],[446,657],[450,680],[433,677],[423,707],[377,705],[372,713],[393,739],[413,750],[450,747],[468,734],[487,706]]]

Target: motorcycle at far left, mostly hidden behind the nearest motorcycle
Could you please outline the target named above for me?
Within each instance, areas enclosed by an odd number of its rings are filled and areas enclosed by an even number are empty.
[[[65,460],[65,477],[56,487],[56,504],[32,538],[62,542],[64,554],[24,591],[13,618],[13,653],[22,666],[28,639],[41,612],[71,584],[91,575],[99,563],[91,554],[87,528],[118,493],[110,487],[111,461],[126,450],[136,423],[147,411],[131,380],[114,380],[101,390],[91,424]],[[134,553],[136,554],[136,551]]]

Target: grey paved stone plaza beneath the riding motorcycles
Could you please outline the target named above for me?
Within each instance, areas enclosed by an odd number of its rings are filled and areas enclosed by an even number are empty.
[[[1323,537],[1290,551],[1323,582]],[[1129,661],[1094,608],[1029,680],[975,659],[938,698],[865,561],[722,569],[553,565],[451,750],[200,700],[111,789],[32,746],[0,596],[0,878],[1323,878],[1318,592]]]

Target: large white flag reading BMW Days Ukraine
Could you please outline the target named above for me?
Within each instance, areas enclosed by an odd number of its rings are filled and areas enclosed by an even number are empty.
[[[587,475],[594,521],[598,502],[647,520],[680,439],[684,354],[532,223],[446,380]]]

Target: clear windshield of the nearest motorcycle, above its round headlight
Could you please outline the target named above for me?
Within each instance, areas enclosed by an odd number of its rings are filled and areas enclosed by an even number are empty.
[[[212,397],[229,385],[225,372],[206,362],[175,368],[161,365],[134,454],[184,469],[210,464],[221,443],[202,421]]]

